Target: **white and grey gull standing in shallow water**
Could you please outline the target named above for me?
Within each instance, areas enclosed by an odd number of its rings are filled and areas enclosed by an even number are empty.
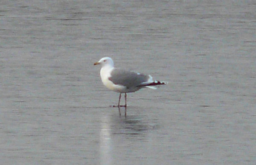
[[[100,77],[103,84],[110,90],[120,93],[118,105],[113,107],[126,107],[126,93],[136,92],[141,88],[157,89],[156,85],[165,85],[167,82],[154,81],[151,75],[145,75],[139,72],[131,72],[114,67],[111,58],[105,57],[100,59],[94,65],[101,64]],[[120,106],[121,94],[125,93],[125,105]]]

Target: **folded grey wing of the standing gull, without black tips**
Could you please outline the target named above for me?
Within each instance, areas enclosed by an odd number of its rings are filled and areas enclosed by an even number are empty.
[[[143,82],[147,82],[149,78],[148,75],[114,68],[111,72],[111,77],[108,79],[114,84],[130,88],[137,87]]]

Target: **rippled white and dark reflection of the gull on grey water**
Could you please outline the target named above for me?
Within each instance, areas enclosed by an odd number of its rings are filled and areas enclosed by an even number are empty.
[[[99,153],[100,164],[113,164],[115,156],[122,151],[120,146],[131,146],[131,142],[140,139],[150,146],[152,135],[157,129],[156,119],[148,119],[145,115],[140,113],[126,115],[126,107],[118,108],[119,117],[116,112],[117,109],[111,113],[102,114],[100,116],[100,132],[99,132]],[[125,113],[123,113],[125,110]],[[134,108],[134,111],[138,111]],[[108,112],[108,111],[107,111]],[[140,112],[140,111],[139,111]],[[153,136],[154,137],[154,136]],[[125,139],[125,140],[124,140]],[[151,148],[148,148],[150,151]]]

